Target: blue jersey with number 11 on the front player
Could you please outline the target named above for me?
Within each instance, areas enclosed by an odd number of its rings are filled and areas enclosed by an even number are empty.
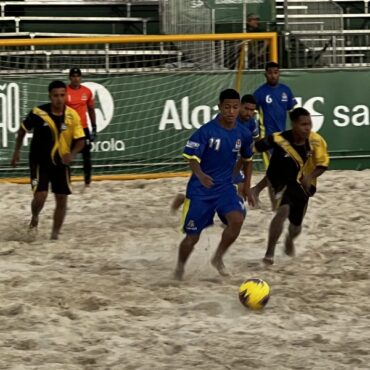
[[[233,186],[232,175],[238,154],[245,160],[251,160],[252,146],[250,131],[239,122],[232,129],[222,127],[219,117],[204,124],[186,143],[183,156],[188,160],[198,161],[202,171],[212,177],[214,186],[207,189],[192,174],[187,187],[187,198],[212,198]]]

